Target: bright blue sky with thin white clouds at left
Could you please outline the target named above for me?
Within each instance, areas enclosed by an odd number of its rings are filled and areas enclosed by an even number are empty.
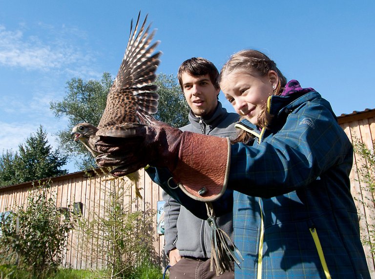
[[[220,69],[255,48],[287,79],[319,91],[336,115],[375,108],[374,0],[0,0],[0,151],[18,150],[40,125],[56,146],[66,120],[49,103],[73,77],[116,75],[139,10],[161,41],[158,72],[176,75],[193,56]]]

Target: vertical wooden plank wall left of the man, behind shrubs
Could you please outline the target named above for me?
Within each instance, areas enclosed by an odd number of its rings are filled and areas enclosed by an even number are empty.
[[[129,180],[125,180],[125,189],[127,190],[124,194],[124,204],[130,205],[130,212],[146,211],[148,209],[156,210],[158,201],[162,200],[161,188],[151,181],[143,169],[140,172],[141,179],[138,187],[142,188],[141,195],[143,199],[136,198],[135,186],[131,185]],[[44,181],[46,180],[41,182]],[[39,185],[39,183],[36,184]],[[95,174],[87,176],[85,172],[76,172],[52,178],[50,195],[47,198],[55,196],[56,207],[69,208],[70,210],[75,203],[82,202],[82,215],[92,220],[95,215],[104,217],[104,206],[108,202],[110,187],[111,183],[106,176]],[[0,212],[15,209],[16,203],[17,205],[23,205],[24,208],[27,207],[28,194],[33,194],[36,191],[35,189],[36,187],[31,182],[0,188]],[[132,202],[132,200],[135,200],[135,202]],[[156,232],[156,218],[155,214],[151,226],[153,228],[154,251],[150,251],[150,255],[153,256],[153,262],[164,267],[167,265],[167,258],[163,250],[164,235],[159,235]],[[82,237],[79,237],[80,234],[82,232],[79,229],[70,232],[67,239],[67,249],[63,251],[62,266],[74,269],[104,267],[105,260],[102,259],[103,257],[94,259],[87,257],[87,251],[90,251],[93,244],[82,243]],[[100,254],[103,243],[96,241],[96,253]]]

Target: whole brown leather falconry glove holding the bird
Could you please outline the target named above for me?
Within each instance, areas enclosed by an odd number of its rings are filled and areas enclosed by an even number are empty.
[[[116,167],[111,173],[123,176],[147,165],[166,167],[181,190],[193,199],[214,201],[227,188],[229,139],[179,129],[139,113],[145,126],[132,128],[128,138],[101,137],[96,147],[99,167]]]

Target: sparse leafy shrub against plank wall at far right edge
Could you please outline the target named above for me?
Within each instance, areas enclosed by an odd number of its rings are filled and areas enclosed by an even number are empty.
[[[373,143],[375,145],[375,142]],[[358,200],[361,204],[366,207],[370,212],[375,211],[375,151],[369,150],[366,145],[356,140],[353,143],[354,151],[356,155],[362,157],[362,164],[358,166],[356,172],[359,177],[362,191],[370,192],[366,195],[364,200]],[[356,159],[357,162],[358,158]],[[367,215],[366,218],[373,219],[374,215]],[[362,243],[369,246],[373,255],[375,255],[375,225],[374,222],[367,221],[367,232],[362,237]]]

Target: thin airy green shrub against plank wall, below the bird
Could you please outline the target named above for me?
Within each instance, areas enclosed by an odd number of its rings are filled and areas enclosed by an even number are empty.
[[[79,228],[87,247],[86,262],[104,263],[106,278],[126,278],[145,258],[156,258],[153,249],[152,210],[131,212],[135,200],[126,193],[131,187],[123,178],[108,180],[102,185],[106,199],[101,214],[90,212],[81,217]],[[127,200],[127,202],[125,202]],[[99,248],[100,247],[100,248]]]

